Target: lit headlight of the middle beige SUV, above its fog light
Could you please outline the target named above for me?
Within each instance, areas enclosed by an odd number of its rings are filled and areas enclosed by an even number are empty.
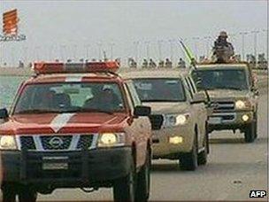
[[[189,114],[165,114],[164,127],[185,125],[188,122]]]

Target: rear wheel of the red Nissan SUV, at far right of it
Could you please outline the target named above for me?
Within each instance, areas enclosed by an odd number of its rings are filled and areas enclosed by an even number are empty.
[[[135,201],[147,201],[150,198],[150,151],[147,151],[145,165],[137,174]]]

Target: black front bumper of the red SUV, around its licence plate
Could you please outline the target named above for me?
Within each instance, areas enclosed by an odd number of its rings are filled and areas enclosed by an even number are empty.
[[[91,151],[2,151],[3,181],[56,188],[100,186],[126,176],[130,147]],[[48,165],[67,165],[48,169]],[[44,165],[47,168],[44,168]]]

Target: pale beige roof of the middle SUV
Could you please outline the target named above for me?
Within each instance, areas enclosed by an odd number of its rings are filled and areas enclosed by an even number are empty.
[[[124,79],[146,79],[146,78],[181,78],[188,74],[188,70],[181,69],[135,69],[120,72]]]

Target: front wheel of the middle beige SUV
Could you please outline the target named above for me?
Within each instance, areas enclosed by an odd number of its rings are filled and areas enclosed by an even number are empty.
[[[196,170],[197,160],[197,137],[195,136],[192,150],[188,153],[182,153],[180,157],[180,167],[182,170]]]

